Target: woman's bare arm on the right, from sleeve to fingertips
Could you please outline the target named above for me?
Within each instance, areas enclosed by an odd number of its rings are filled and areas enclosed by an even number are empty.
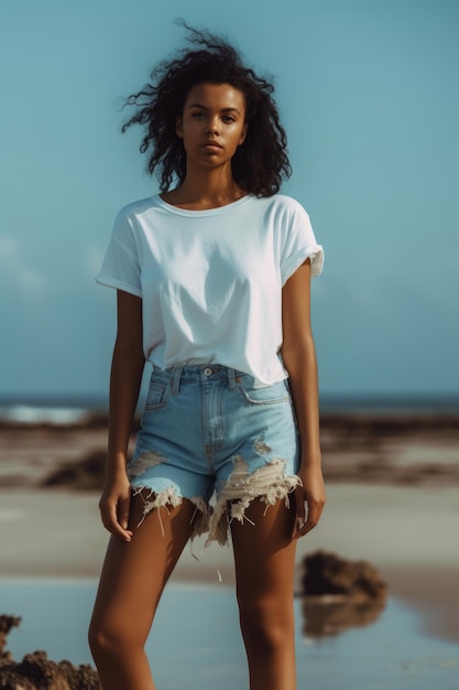
[[[292,399],[298,422],[303,486],[295,490],[294,537],[303,537],[320,518],[325,505],[319,442],[317,363],[310,327],[310,262],[300,266],[282,291],[282,359],[288,371]],[[307,516],[305,509],[307,503]]]

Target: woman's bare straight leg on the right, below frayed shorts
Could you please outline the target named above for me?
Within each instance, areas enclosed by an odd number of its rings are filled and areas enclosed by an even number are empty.
[[[295,690],[294,511],[259,499],[231,522],[242,637],[250,690]]]

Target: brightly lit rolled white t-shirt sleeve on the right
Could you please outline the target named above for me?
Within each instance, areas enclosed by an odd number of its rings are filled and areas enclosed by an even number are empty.
[[[285,244],[281,259],[282,284],[297,268],[310,260],[310,274],[319,276],[324,266],[324,248],[316,241],[309,216],[300,204],[295,204],[286,228]]]

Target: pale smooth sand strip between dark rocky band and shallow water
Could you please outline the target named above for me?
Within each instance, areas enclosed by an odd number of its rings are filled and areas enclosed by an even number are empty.
[[[97,502],[94,492],[0,490],[0,587],[8,580],[97,581],[108,542]],[[389,596],[422,615],[424,629],[459,642],[458,508],[456,487],[331,483],[320,524],[298,542],[297,575],[303,557],[317,549],[369,561],[387,581]],[[185,547],[171,582],[221,586],[219,570],[222,585],[233,586],[231,548],[203,543],[193,543],[198,561]]]

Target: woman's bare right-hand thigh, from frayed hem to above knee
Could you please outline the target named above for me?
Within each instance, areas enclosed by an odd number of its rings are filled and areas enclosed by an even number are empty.
[[[296,540],[294,506],[283,499],[266,506],[254,499],[245,519],[231,521],[239,600],[274,597],[291,601]]]

